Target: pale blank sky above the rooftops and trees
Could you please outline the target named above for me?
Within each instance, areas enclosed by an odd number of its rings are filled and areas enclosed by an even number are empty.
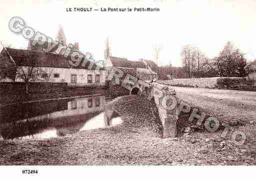
[[[158,7],[158,12],[68,12],[66,8]],[[61,24],[67,42],[104,60],[104,41],[110,39],[112,56],[154,60],[153,47],[161,45],[159,66],[181,66],[184,45],[199,47],[209,58],[227,41],[256,59],[256,0],[1,0],[0,40],[26,48],[28,40],[8,29],[13,16],[55,39]]]

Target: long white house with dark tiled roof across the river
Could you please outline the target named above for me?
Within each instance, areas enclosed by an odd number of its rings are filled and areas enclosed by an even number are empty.
[[[33,82],[66,82],[72,86],[105,85],[105,70],[87,69],[86,66],[74,67],[67,58],[55,53],[6,48],[16,63],[15,81],[24,81],[19,74],[27,74],[33,67],[40,72],[39,77],[30,79]],[[7,55],[2,51],[2,55]]]

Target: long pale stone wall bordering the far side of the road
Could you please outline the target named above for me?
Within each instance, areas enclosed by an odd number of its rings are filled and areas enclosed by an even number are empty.
[[[166,85],[188,85],[189,87],[199,87],[199,88],[213,88],[217,86],[217,81],[221,77],[213,78],[180,78],[172,80],[158,80],[158,83]],[[232,77],[236,78],[236,77]]]

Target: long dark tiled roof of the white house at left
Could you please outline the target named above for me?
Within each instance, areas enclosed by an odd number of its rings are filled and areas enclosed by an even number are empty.
[[[71,66],[63,55],[55,54],[55,53],[45,53],[40,51],[32,51],[32,50],[23,50],[23,49],[14,49],[14,48],[6,48],[8,53],[12,56],[16,65],[18,66],[33,66],[35,67],[53,67],[53,68],[78,68],[78,69],[87,69],[88,64],[85,67]],[[3,55],[6,55],[3,52]],[[94,65],[93,69],[95,69],[96,65]]]

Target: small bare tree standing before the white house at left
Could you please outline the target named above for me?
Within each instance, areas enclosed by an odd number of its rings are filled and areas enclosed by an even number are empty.
[[[29,52],[23,52],[23,66],[17,66],[16,79],[25,83],[25,92],[28,94],[28,82],[40,80],[42,70],[36,65],[36,56]]]

